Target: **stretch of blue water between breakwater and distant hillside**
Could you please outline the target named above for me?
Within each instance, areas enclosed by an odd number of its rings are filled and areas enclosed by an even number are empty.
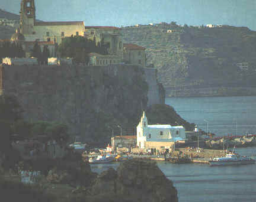
[[[185,120],[217,136],[256,134],[256,96],[167,98]]]

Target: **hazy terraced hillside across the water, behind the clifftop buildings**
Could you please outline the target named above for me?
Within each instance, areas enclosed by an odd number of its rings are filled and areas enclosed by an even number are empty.
[[[171,22],[124,27],[122,32],[125,43],[146,47],[147,63],[158,69],[167,96],[256,93],[255,31],[228,25],[181,27]],[[247,70],[239,68],[241,63]],[[205,94],[207,89],[210,93]]]

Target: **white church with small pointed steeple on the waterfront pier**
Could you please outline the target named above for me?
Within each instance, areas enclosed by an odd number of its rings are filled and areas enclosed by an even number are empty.
[[[171,125],[148,125],[148,118],[143,112],[137,125],[137,146],[139,148],[172,149],[175,142],[185,141],[185,128]]]

